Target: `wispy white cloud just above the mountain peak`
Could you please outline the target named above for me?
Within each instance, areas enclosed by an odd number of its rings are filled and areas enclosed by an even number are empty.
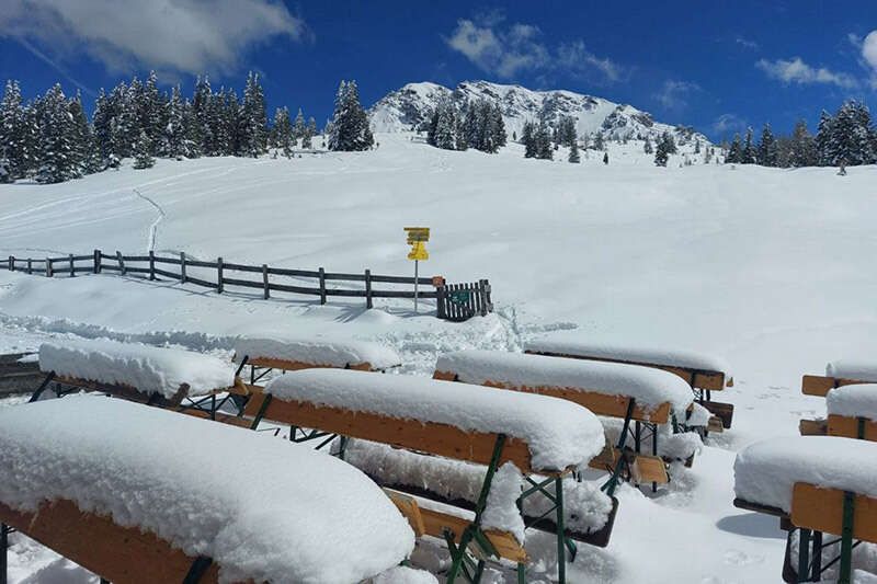
[[[515,23],[503,28],[501,25],[502,18],[496,14],[479,22],[462,19],[445,42],[479,69],[502,78],[514,77],[521,71],[557,69],[573,75],[597,72],[607,81],[617,81],[622,77],[620,66],[589,51],[582,41],[560,44],[551,49],[542,42],[537,26]]]

